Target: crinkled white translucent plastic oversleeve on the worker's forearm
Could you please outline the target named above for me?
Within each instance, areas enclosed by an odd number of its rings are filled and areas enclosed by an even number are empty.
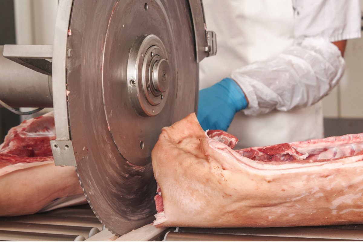
[[[337,46],[323,38],[305,38],[281,54],[232,72],[248,98],[246,115],[310,106],[329,94],[345,68]]]

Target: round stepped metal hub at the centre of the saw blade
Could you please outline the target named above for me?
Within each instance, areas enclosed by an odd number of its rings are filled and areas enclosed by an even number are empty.
[[[132,107],[142,116],[159,114],[168,97],[170,73],[163,42],[154,34],[136,38],[127,64]]]

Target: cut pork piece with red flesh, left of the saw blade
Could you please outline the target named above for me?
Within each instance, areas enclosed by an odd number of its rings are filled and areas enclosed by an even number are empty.
[[[54,165],[50,140],[55,138],[53,113],[9,130],[0,145],[0,216],[85,203],[74,167]]]

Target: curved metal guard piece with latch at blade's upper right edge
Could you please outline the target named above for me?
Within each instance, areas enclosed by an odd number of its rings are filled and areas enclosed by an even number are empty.
[[[217,53],[216,33],[207,30],[202,0],[189,0],[195,36],[197,63]]]

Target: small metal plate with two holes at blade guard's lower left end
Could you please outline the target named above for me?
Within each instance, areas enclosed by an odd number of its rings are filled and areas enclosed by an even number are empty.
[[[56,166],[76,166],[72,141],[52,140],[50,146]]]

